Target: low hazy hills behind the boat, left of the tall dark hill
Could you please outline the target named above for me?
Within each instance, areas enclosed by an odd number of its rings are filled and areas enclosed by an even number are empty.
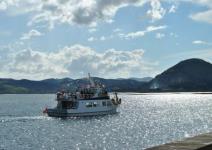
[[[142,88],[143,82],[131,79],[103,79],[93,78],[95,82],[106,85],[109,91],[134,92]],[[0,94],[16,93],[55,93],[61,89],[76,90],[77,87],[86,85],[89,81],[83,79],[46,79],[41,81],[0,79]]]

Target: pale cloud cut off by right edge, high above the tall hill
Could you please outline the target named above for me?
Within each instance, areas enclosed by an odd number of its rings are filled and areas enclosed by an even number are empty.
[[[192,14],[191,19],[212,24],[212,10]]]

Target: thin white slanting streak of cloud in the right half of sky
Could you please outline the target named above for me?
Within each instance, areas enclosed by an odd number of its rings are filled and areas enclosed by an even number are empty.
[[[167,28],[166,25],[148,26],[143,31],[130,32],[130,33],[127,33],[127,34],[120,33],[119,37],[124,38],[124,39],[134,39],[134,38],[143,37],[146,33],[157,31],[157,30],[162,30],[162,29],[166,29],[166,28]]]

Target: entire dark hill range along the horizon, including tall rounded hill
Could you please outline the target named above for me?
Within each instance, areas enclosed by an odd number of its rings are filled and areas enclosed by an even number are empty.
[[[94,77],[109,91],[118,92],[209,92],[212,91],[212,64],[201,59],[179,62],[155,78],[103,79]],[[46,79],[41,81],[0,79],[1,94],[55,93],[74,90],[88,82],[82,79]]]

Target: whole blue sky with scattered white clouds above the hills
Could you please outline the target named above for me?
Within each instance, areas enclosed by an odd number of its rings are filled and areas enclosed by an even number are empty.
[[[154,77],[212,62],[212,0],[0,0],[0,78]]]

